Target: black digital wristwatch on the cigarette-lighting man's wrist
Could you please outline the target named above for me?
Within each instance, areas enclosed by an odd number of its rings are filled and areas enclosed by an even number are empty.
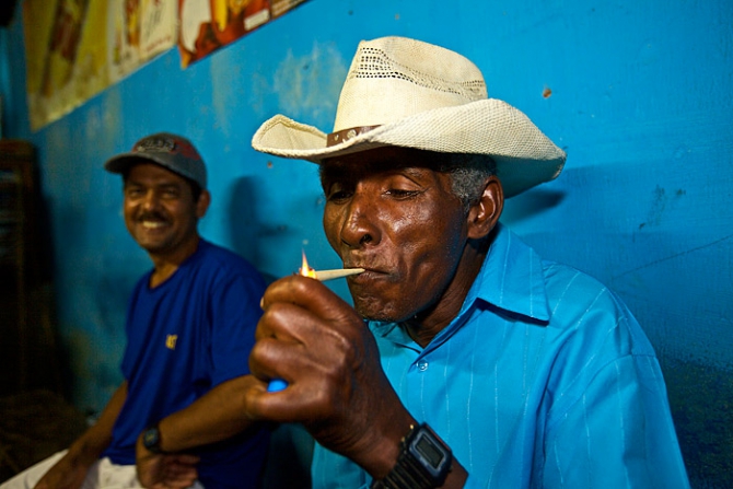
[[[384,479],[372,482],[371,489],[432,489],[443,486],[453,453],[426,423],[410,426],[399,446],[397,463]]]

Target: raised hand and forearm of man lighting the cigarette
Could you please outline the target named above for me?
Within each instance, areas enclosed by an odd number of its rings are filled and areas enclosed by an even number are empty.
[[[301,422],[323,446],[347,456],[374,479],[389,474],[402,439],[418,424],[384,374],[374,338],[361,317],[324,284],[288,277],[270,286],[251,356],[259,382],[246,412]],[[270,379],[289,386],[267,393]],[[463,487],[454,461],[443,487]]]

